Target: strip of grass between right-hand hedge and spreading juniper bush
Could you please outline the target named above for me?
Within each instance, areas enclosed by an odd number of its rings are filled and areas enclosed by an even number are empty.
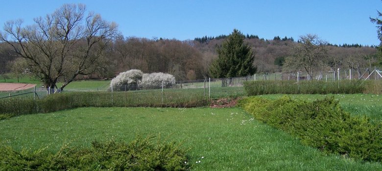
[[[259,97],[277,99],[285,94],[260,95]],[[339,100],[341,107],[354,116],[367,116],[372,122],[382,122],[382,96],[375,94],[290,94],[292,99],[314,101],[333,97]]]

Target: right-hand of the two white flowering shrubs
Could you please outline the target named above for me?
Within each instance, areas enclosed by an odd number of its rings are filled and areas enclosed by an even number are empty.
[[[155,89],[155,88],[170,88],[175,85],[175,77],[171,74],[166,74],[163,72],[154,72],[151,74],[143,74],[140,87],[143,89]]]

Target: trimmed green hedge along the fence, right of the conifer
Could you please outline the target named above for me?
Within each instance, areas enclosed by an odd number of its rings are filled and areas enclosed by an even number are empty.
[[[362,81],[247,81],[244,89],[249,96],[262,94],[354,94],[363,93]]]

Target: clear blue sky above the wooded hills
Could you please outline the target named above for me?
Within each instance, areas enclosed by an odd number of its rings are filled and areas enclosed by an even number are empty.
[[[119,24],[124,36],[193,40],[228,35],[234,28],[264,39],[317,34],[329,43],[378,45],[369,17],[381,0],[3,0],[0,24],[52,13],[64,3],[86,4],[88,11]]]

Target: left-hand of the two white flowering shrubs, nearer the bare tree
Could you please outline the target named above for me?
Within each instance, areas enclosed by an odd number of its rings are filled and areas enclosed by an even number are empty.
[[[142,80],[142,76],[143,72],[139,69],[131,69],[121,72],[110,82],[109,89],[113,86],[113,91],[137,90],[138,85]]]

